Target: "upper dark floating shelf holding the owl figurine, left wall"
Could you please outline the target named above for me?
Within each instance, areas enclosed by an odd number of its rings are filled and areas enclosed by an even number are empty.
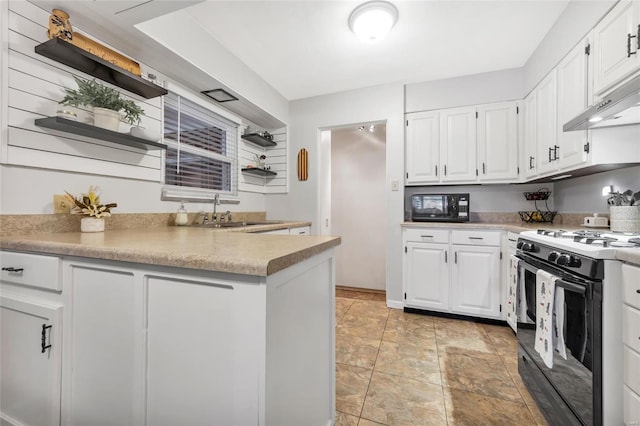
[[[168,93],[164,87],[153,84],[59,38],[52,38],[37,45],[35,51],[42,56],[85,72],[146,99]]]

